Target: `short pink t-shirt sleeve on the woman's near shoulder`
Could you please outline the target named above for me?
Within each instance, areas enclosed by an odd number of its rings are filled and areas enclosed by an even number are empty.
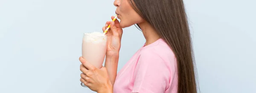
[[[132,93],[165,93],[171,75],[167,64],[156,53],[143,52],[134,70]]]

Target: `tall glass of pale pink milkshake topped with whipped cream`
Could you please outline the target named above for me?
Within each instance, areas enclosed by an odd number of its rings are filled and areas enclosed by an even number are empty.
[[[107,36],[100,32],[84,33],[82,57],[96,68],[101,68],[107,51]],[[85,86],[81,82],[81,86]]]

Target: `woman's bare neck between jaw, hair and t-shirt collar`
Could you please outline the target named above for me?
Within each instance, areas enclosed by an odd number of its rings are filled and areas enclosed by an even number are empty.
[[[157,34],[157,31],[147,22],[138,23],[143,35],[146,39],[145,46],[149,45],[158,39],[160,39],[160,36]]]

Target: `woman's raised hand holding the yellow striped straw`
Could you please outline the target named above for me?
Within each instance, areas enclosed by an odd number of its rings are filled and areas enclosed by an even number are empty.
[[[111,19],[113,20],[114,17],[112,16]],[[106,56],[114,56],[115,54],[119,53],[123,31],[121,26],[119,25],[119,21],[115,20],[114,22],[106,22],[105,26],[102,28],[103,32],[106,30],[109,24],[110,29],[106,33],[106,35],[108,36]]]

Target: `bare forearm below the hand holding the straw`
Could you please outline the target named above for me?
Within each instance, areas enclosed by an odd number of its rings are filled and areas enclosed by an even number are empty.
[[[105,68],[107,68],[108,70],[109,79],[112,85],[114,85],[114,82],[116,80],[118,60],[119,53],[114,53],[112,55],[106,56]]]

